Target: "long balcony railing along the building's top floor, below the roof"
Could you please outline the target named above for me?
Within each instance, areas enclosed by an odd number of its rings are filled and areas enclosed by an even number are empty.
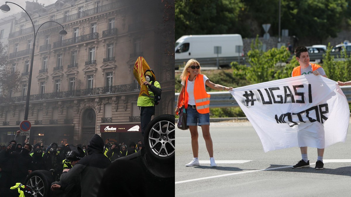
[[[124,4],[124,1],[115,1],[111,4],[102,5],[102,6],[99,6],[97,8],[96,7],[91,8],[91,9],[88,9],[87,11],[83,11],[83,12],[76,13],[76,14],[71,14],[71,15],[68,15],[68,16],[65,16],[65,17],[62,17],[59,19],[55,19],[53,21],[62,24],[62,23],[68,22],[68,21],[73,21],[73,20],[85,17],[85,16],[90,16],[90,15],[93,15],[96,13],[105,12],[105,11],[110,10],[110,9],[116,9],[118,7],[123,6],[123,4]],[[24,17],[28,19],[27,15]],[[41,29],[46,29],[46,28],[52,27],[52,26],[58,26],[58,25],[57,25],[57,23],[54,23],[54,22],[48,22],[48,23],[45,23],[43,26],[41,26]],[[36,25],[35,29],[38,29],[38,27],[39,27],[39,25]],[[28,28],[13,32],[8,37],[13,38],[13,37],[16,37],[19,35],[24,35],[24,34],[31,33],[31,32],[33,32],[33,27],[28,27]]]

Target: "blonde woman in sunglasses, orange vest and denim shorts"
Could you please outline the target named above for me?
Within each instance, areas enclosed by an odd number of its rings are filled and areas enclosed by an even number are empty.
[[[190,59],[184,67],[183,73],[180,75],[181,87],[176,113],[179,107],[185,105],[187,121],[191,134],[191,147],[193,150],[193,160],[186,164],[186,167],[198,166],[199,164],[199,143],[197,126],[201,126],[202,134],[206,143],[208,154],[210,155],[210,166],[217,167],[213,158],[213,144],[210,135],[210,95],[206,93],[205,84],[215,90],[232,90],[232,87],[225,87],[212,83],[206,75],[201,74],[200,63],[194,59]],[[186,82],[186,83],[185,83]],[[184,87],[185,86],[185,87]],[[183,94],[184,103],[183,103]]]

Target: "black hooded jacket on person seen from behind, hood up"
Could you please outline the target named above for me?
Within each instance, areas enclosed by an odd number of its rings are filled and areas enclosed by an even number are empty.
[[[88,155],[80,159],[67,173],[62,173],[60,182],[67,184],[74,176],[80,175],[82,196],[97,196],[102,176],[111,164],[103,150],[104,141],[95,134],[88,144]]]

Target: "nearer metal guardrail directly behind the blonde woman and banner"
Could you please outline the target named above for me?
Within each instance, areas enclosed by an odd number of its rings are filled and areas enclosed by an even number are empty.
[[[351,103],[351,86],[342,86],[340,87],[343,90],[347,98],[347,102]],[[229,91],[216,91],[208,92],[211,95],[210,108],[225,108],[225,107],[238,107],[237,101],[229,93]],[[179,93],[175,94],[175,105],[177,105]],[[174,106],[175,108],[176,106]]]

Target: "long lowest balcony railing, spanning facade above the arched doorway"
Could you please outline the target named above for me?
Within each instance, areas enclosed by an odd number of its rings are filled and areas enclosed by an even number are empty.
[[[140,90],[139,83],[130,83],[130,84],[117,85],[117,86],[105,86],[105,87],[98,87],[98,88],[34,94],[29,97],[29,100],[39,101],[39,100],[47,100],[47,99],[72,98],[72,97],[80,97],[80,96],[88,96],[88,95],[90,96],[90,95],[126,93],[126,92],[139,91],[139,90]],[[6,101],[7,102],[24,102],[26,101],[26,96],[15,96],[15,97],[8,98],[8,100],[9,101],[7,100]],[[0,102],[5,103],[5,100]]]

